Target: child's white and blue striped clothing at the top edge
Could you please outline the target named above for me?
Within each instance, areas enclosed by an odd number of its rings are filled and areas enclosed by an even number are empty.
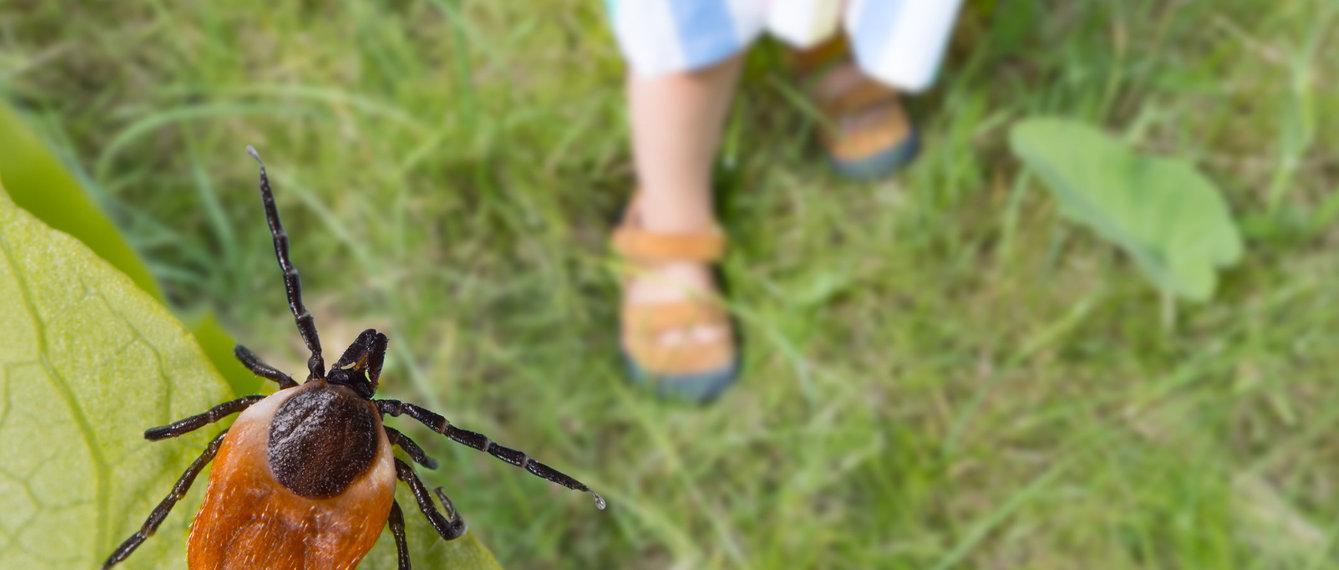
[[[805,48],[837,32],[856,63],[902,91],[935,80],[961,0],[605,0],[633,72],[655,76],[719,63],[763,31]]]

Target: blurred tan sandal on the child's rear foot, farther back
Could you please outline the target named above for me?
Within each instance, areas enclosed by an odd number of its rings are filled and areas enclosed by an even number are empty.
[[[853,181],[882,178],[907,166],[920,151],[920,132],[908,119],[897,90],[864,74],[836,94],[817,94],[817,84],[836,68],[850,66],[844,36],[791,56],[809,78],[810,98],[823,116],[821,140],[837,174]]]

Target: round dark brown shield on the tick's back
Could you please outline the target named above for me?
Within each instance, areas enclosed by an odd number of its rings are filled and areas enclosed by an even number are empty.
[[[376,408],[343,385],[297,388],[269,427],[269,470],[301,496],[344,492],[376,456]]]

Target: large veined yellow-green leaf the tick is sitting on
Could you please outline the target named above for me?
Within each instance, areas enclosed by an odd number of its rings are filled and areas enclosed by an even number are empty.
[[[0,567],[98,567],[167,494],[217,427],[143,431],[232,397],[191,335],[79,241],[0,187]],[[205,478],[126,567],[185,567]],[[419,567],[497,569],[466,534],[445,543],[400,494]],[[364,569],[394,569],[383,534]]]

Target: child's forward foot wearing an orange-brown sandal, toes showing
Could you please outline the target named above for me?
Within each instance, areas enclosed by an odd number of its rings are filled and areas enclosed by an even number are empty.
[[[711,268],[724,253],[724,235],[716,227],[648,231],[633,199],[613,248],[629,265],[620,345],[632,380],[661,396],[699,403],[716,397],[739,372],[734,325]]]

